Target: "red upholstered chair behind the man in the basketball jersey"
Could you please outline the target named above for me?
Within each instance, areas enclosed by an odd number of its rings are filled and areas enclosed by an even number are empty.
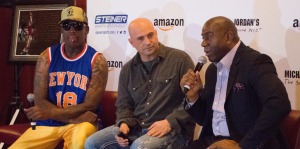
[[[116,120],[116,107],[115,102],[117,99],[116,91],[105,91],[100,107],[102,109],[101,115],[99,116],[102,120],[103,126],[107,127],[113,125]],[[28,128],[30,127],[29,122],[24,124],[14,124],[0,126],[0,142],[4,143],[4,148],[9,147],[14,143]],[[63,148],[63,141],[56,147],[57,149]]]

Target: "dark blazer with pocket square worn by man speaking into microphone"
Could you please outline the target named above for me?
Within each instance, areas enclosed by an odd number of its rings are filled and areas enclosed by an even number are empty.
[[[212,136],[212,104],[216,66],[205,74],[205,87],[199,99],[187,109],[203,126],[199,139]],[[286,89],[278,78],[272,59],[241,42],[228,78],[225,112],[230,137],[243,149],[288,148],[281,132],[281,121],[290,112]]]

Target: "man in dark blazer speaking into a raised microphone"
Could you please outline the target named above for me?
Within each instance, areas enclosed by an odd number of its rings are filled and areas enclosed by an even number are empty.
[[[189,70],[180,85],[190,86],[187,112],[201,126],[189,148],[288,148],[280,123],[291,105],[272,59],[240,41],[234,23],[222,16],[202,28],[202,46],[212,62],[205,87]]]

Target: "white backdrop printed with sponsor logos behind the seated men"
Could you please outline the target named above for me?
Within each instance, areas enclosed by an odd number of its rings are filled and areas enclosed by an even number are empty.
[[[184,50],[196,63],[205,55],[203,24],[211,17],[226,16],[235,22],[246,45],[272,57],[292,108],[300,110],[299,6],[299,0],[88,0],[87,42],[106,57],[106,90],[116,91],[122,66],[136,54],[128,42],[130,21],[148,18],[163,44]]]

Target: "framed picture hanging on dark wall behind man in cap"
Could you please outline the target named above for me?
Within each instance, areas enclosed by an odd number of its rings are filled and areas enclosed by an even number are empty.
[[[17,5],[12,30],[10,61],[36,61],[47,47],[60,43],[58,26],[67,4]]]

